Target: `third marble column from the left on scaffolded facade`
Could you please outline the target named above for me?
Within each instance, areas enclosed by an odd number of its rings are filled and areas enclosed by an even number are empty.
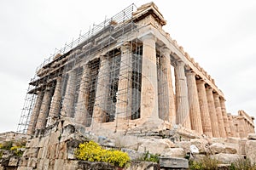
[[[55,84],[55,93],[51,99],[47,127],[56,122],[61,111],[61,77],[58,77]]]

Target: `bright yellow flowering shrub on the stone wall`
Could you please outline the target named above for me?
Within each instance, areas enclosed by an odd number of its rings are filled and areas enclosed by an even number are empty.
[[[130,157],[127,153],[119,150],[104,150],[99,144],[93,141],[79,144],[75,150],[75,156],[84,161],[103,161],[113,164],[117,167],[125,167]]]

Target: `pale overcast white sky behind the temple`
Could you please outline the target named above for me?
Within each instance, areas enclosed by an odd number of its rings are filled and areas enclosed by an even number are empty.
[[[122,9],[144,0],[0,1],[0,133],[16,131],[28,82],[44,59]],[[155,0],[169,32],[210,74],[227,111],[256,117],[256,1]]]

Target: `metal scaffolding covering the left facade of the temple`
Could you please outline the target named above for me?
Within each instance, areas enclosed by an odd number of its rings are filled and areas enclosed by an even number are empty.
[[[137,31],[137,26],[132,20],[135,8],[136,6],[131,4],[110,19],[105,19],[98,25],[94,24],[88,32],[80,33],[78,39],[71,43],[66,43],[64,48],[55,48],[55,53],[38,66],[35,76],[29,83],[17,132],[26,133],[30,126],[35,127],[37,122],[33,122],[34,124],[32,125],[32,121],[34,121],[32,115],[34,114],[35,117],[38,117],[35,105],[39,100],[39,92],[43,94],[49,93],[51,103],[53,103],[58,77],[61,77],[61,106],[53,109],[59,113],[59,118],[67,116],[61,113],[64,107],[71,111],[68,116],[74,117],[79,112],[79,105],[85,105],[86,103],[86,126],[90,126],[96,102],[103,105],[104,117],[101,117],[102,122],[113,122],[119,114],[126,114],[129,119],[140,117],[142,42],[137,39],[131,41],[131,48],[129,49],[131,58],[128,58],[128,60],[122,60],[122,52],[115,47],[118,41],[125,42],[127,35]],[[108,60],[109,70],[100,72],[102,63],[100,57],[96,57],[96,54],[104,51],[106,51],[104,57]],[[88,65],[89,72],[87,74],[90,75],[87,79],[85,78],[86,82],[83,79],[84,65]],[[125,71],[122,71],[123,68],[120,67],[126,68]],[[122,71],[122,75],[119,75],[120,71]],[[71,79],[71,72],[75,75],[72,79],[73,87],[67,85]],[[102,78],[106,79],[105,77],[108,77],[108,82],[104,83],[102,87],[106,88],[108,92],[106,91],[107,93],[101,95],[97,94],[97,86],[99,86]],[[126,79],[131,83],[131,88],[118,89],[119,82],[122,79]],[[85,94],[89,96],[87,101],[84,101],[84,98],[83,100],[79,99],[79,92],[83,90],[81,89],[82,84],[85,84]],[[119,95],[131,94],[129,101],[119,99],[119,103],[123,102],[126,105],[129,102],[133,105],[129,108],[130,111],[116,111],[118,93]],[[49,105],[49,103],[44,103],[44,99],[41,100],[41,105]],[[72,102],[68,102],[69,105],[65,105],[65,100],[72,100]],[[48,112],[45,114],[49,114],[49,110],[52,109],[50,108],[51,106],[52,104],[48,106],[49,108],[44,109],[44,111]],[[48,120],[38,120],[38,122],[40,121],[46,123]]]

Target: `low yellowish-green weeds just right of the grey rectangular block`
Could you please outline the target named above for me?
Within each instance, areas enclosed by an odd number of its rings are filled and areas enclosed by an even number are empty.
[[[200,161],[189,161],[189,169],[203,170],[203,169],[218,169],[220,162],[216,159],[212,159],[210,156],[206,156]]]

